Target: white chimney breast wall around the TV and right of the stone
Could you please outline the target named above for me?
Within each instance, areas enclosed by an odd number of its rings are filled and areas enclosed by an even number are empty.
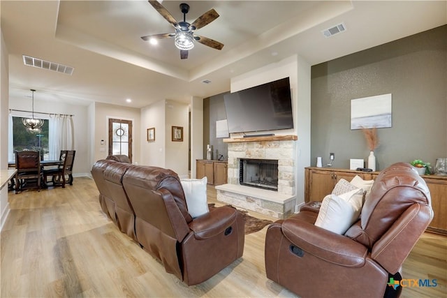
[[[275,135],[298,135],[295,173],[297,204],[304,202],[304,168],[310,163],[310,65],[298,55],[288,57],[231,79],[231,92],[289,77],[293,106],[293,129],[274,131]],[[257,134],[252,133],[252,134]],[[269,132],[272,133],[272,132]],[[247,133],[248,134],[248,133]],[[238,137],[240,134],[232,134]]]

